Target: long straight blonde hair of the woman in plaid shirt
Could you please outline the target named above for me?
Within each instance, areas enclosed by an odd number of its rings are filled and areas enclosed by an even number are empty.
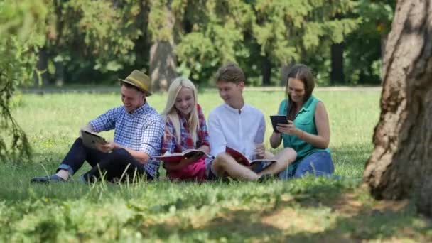
[[[175,137],[177,138],[178,143],[180,143],[180,117],[178,117],[178,112],[175,109],[175,99],[177,99],[178,93],[180,92],[181,88],[188,88],[192,90],[193,92],[193,99],[195,101],[193,105],[192,112],[190,112],[190,116],[188,119],[188,128],[189,128],[189,134],[192,136],[192,141],[195,146],[197,142],[197,127],[198,127],[198,109],[197,109],[197,89],[195,88],[195,85],[193,85],[193,82],[188,80],[185,77],[177,77],[168,88],[168,100],[166,102],[166,107],[163,109],[162,115],[165,118],[166,121],[168,119],[171,120],[171,122],[174,125],[175,129]]]

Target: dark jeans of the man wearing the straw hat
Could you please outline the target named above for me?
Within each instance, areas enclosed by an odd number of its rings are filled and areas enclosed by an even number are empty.
[[[103,153],[96,149],[87,148],[82,144],[80,138],[75,140],[57,171],[62,169],[73,175],[81,168],[84,161],[92,166],[92,169],[84,174],[87,182],[98,180],[102,178],[102,175],[108,181],[117,181],[122,175],[122,180],[126,178],[131,180],[135,174],[146,174],[147,179],[153,179],[144,170],[144,165],[132,157],[126,149],[114,148],[111,153]]]

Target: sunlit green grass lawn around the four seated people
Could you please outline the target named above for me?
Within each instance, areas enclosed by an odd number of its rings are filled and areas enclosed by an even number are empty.
[[[33,160],[1,164],[0,242],[431,241],[431,222],[416,214],[413,202],[375,201],[356,180],[372,151],[379,95],[315,92],[330,116],[339,180],[123,185],[29,183],[53,173],[80,127],[120,105],[119,95],[23,95],[13,114],[33,145]],[[284,94],[249,91],[244,97],[268,117]],[[165,95],[148,98],[159,112],[165,101]],[[199,95],[206,114],[220,102],[217,92]],[[266,148],[270,134],[267,119]],[[103,135],[112,138],[112,132]]]

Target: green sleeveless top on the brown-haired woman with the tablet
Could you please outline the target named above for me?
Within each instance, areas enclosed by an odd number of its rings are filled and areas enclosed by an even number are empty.
[[[296,117],[294,117],[294,125],[296,125],[298,129],[301,129],[302,131],[305,131],[309,134],[318,135],[318,131],[315,126],[315,108],[318,102],[318,99],[311,96],[305,102],[305,104],[303,104],[303,107],[301,107],[300,111],[296,114]],[[284,99],[279,106],[278,113],[286,116],[287,109],[288,101]],[[291,163],[291,165],[288,167],[290,171],[295,170],[298,163],[311,153],[317,151],[327,151],[330,153],[329,148],[315,148],[311,144],[306,143],[306,141],[303,141],[294,135],[282,134],[282,141],[284,141],[284,148],[293,148],[297,152],[296,161]]]

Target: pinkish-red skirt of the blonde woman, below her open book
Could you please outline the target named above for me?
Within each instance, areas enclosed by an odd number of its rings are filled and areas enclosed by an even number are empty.
[[[171,180],[196,180],[196,181],[204,181],[206,180],[205,176],[205,156],[195,161],[195,163],[191,163],[189,166],[185,168],[181,168],[177,171],[167,171],[168,178]]]

